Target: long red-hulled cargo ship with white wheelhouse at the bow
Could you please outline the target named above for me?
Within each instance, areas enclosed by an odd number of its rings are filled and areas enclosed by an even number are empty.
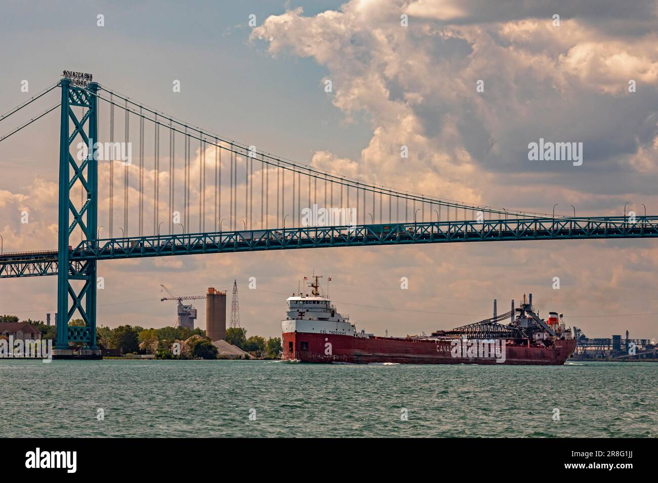
[[[528,364],[561,365],[573,354],[576,340],[562,314],[540,319],[532,294],[512,310],[491,319],[437,331],[430,336],[378,337],[357,332],[356,325],[320,294],[318,279],[311,294],[288,297],[281,321],[284,361],[314,363]],[[307,278],[305,277],[305,280]],[[331,279],[329,279],[331,280]],[[509,324],[501,321],[509,319]]]

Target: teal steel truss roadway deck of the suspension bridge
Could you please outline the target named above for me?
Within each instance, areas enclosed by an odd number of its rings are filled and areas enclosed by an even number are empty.
[[[89,260],[116,260],[203,253],[293,250],[446,242],[578,240],[658,237],[658,217],[519,218],[486,221],[382,223],[340,227],[185,233],[100,239],[70,249],[80,273]],[[57,274],[57,250],[0,255],[0,278]],[[71,275],[75,275],[72,273]]]

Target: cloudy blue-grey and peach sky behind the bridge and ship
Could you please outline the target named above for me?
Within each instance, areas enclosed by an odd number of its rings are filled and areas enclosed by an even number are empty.
[[[373,183],[509,210],[546,213],[557,203],[562,215],[570,205],[578,216],[620,215],[629,202],[628,210],[642,214],[644,203],[657,214],[657,17],[656,1],[9,1],[0,17],[0,112],[64,69],[91,72],[110,89],[228,139]],[[0,135],[58,95],[0,121]],[[101,107],[101,135],[107,114]],[[131,123],[135,139],[138,122]],[[0,143],[5,252],[57,246],[58,132],[53,112]],[[582,143],[582,166],[528,160],[528,143],[540,138]],[[409,158],[400,157],[401,145]],[[194,175],[196,145],[192,153]],[[107,229],[107,166],[100,169],[99,225]],[[147,186],[154,178],[147,170]],[[116,183],[115,231],[123,210]],[[132,193],[135,216],[136,199]],[[20,223],[23,211],[30,223]],[[248,334],[274,336],[286,296],[315,270],[332,277],[338,309],[368,332],[455,327],[490,315],[494,298],[502,310],[532,292],[540,313],[561,311],[590,336],[628,330],[655,338],[657,265],[648,240],[109,261],[99,263],[98,322],[162,327],[175,306],[159,301],[159,284],[201,294],[237,279]],[[249,277],[257,290],[247,287]],[[0,313],[45,319],[55,311],[56,283],[0,281]],[[196,306],[205,327],[205,304]]]

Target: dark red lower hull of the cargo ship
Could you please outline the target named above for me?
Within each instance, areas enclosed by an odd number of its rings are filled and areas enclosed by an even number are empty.
[[[297,332],[282,336],[284,360],[313,363],[561,365],[576,348],[574,339],[555,340],[549,348],[513,345],[508,341],[504,357],[455,357],[449,340]]]

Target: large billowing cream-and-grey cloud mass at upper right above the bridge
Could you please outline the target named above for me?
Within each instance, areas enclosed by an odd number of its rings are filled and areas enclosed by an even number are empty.
[[[429,185],[432,195],[494,204],[508,202],[517,173],[530,175],[535,188],[557,184],[567,197],[585,191],[594,198],[601,177],[637,175],[638,166],[646,172],[636,158],[656,154],[656,107],[647,100],[658,93],[657,34],[631,41],[605,26],[654,18],[655,5],[626,11],[611,4],[599,9],[606,14],[567,2],[509,7],[355,0],[316,16],[301,8],[270,16],[251,37],[271,55],[314,58],[329,71],[334,105],[346,116],[370,115],[372,139],[356,161],[362,177],[379,183]],[[559,26],[553,7],[563,12]],[[408,28],[399,24],[404,12]],[[476,91],[478,80],[484,92]],[[638,92],[628,92],[629,80]],[[528,143],[540,137],[584,143],[582,175],[570,164],[529,162]],[[401,145],[409,147],[408,162],[400,160]],[[515,208],[545,211],[553,199],[536,189],[517,194]]]

